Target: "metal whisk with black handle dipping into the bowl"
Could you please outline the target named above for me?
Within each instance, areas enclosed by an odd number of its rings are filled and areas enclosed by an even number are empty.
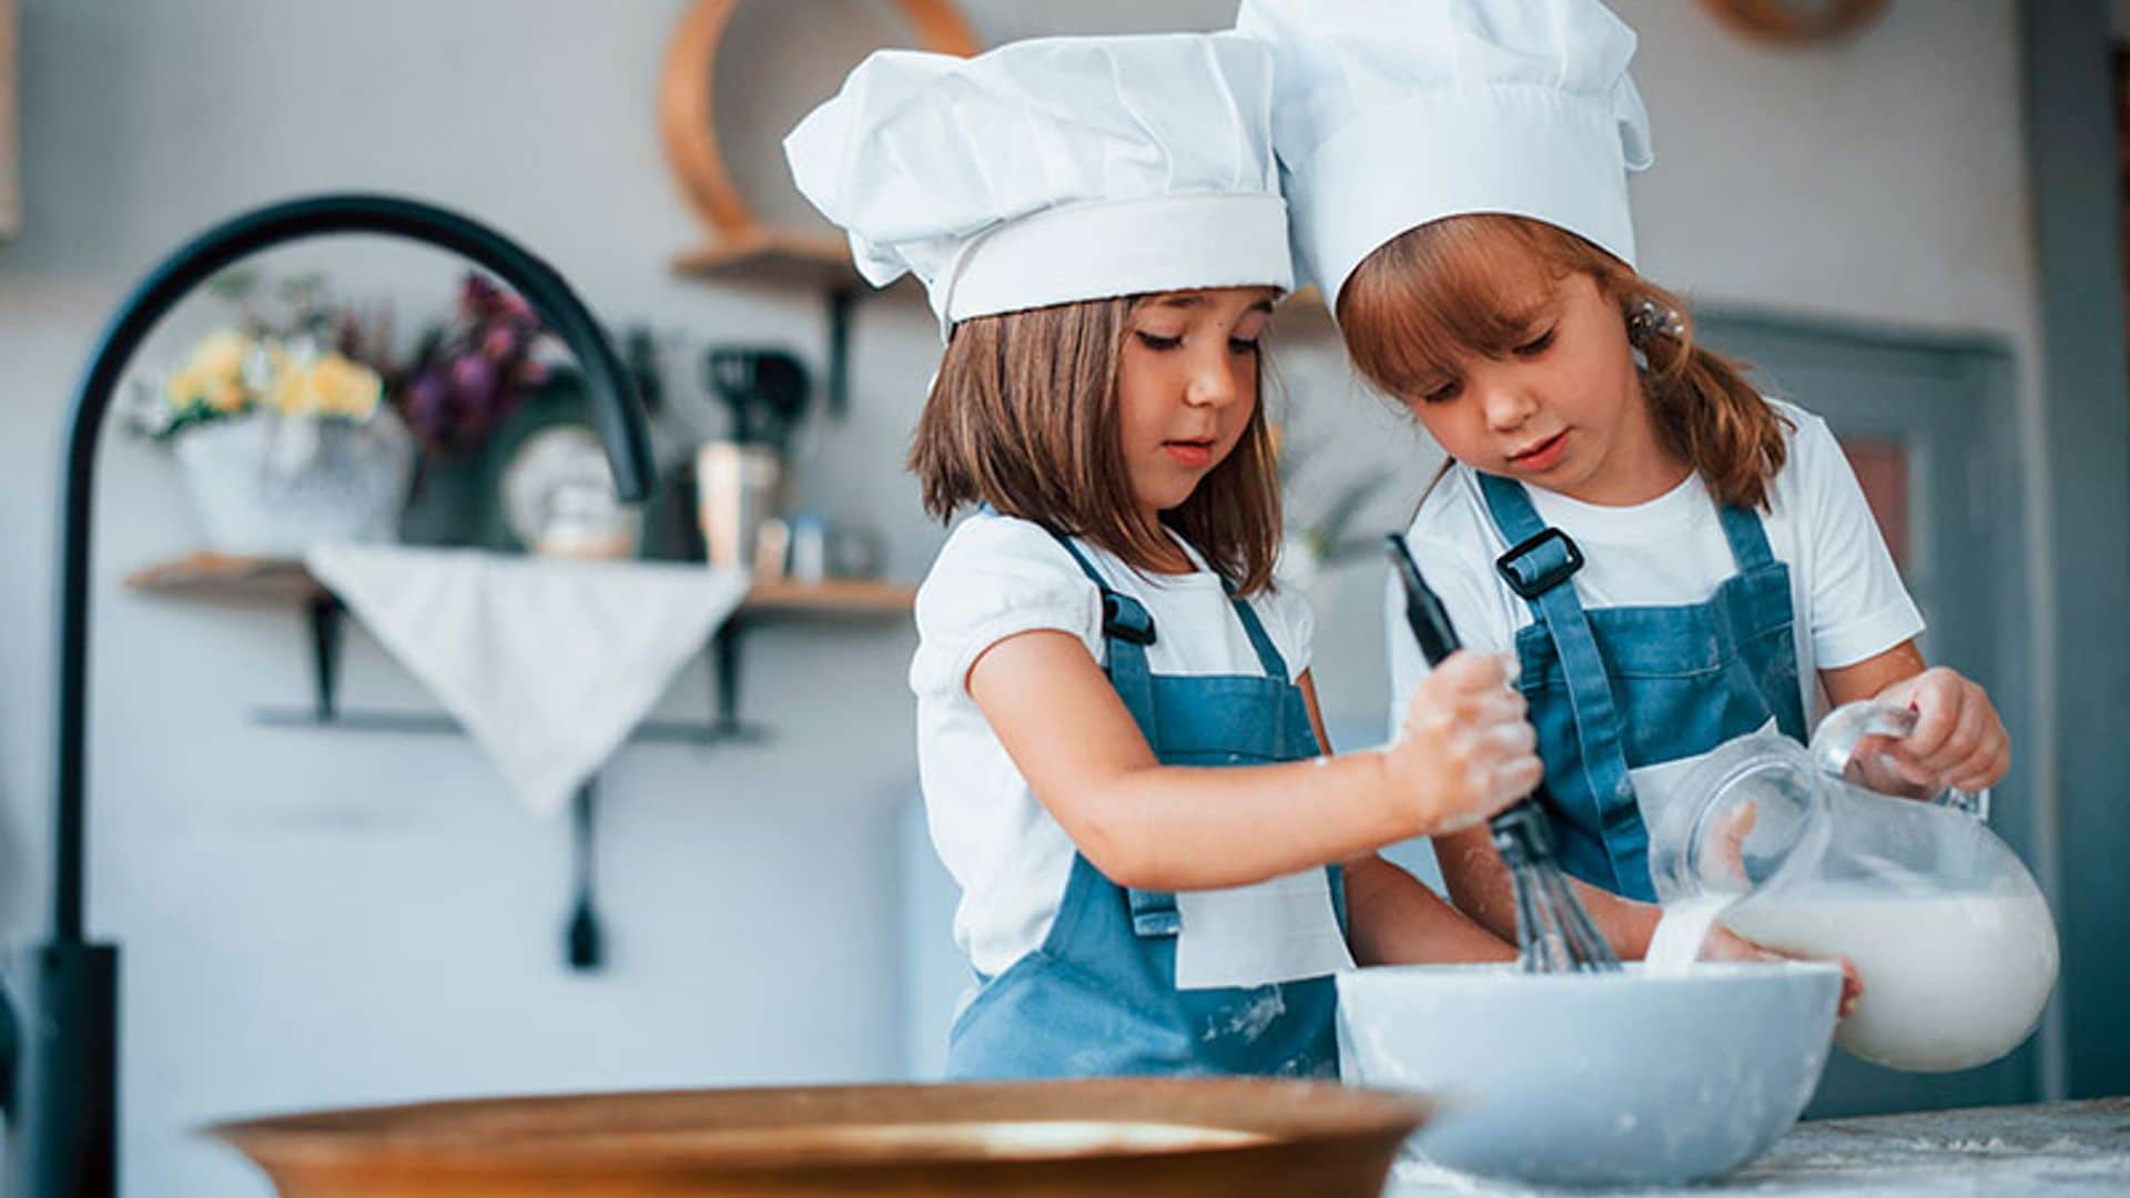
[[[1442,599],[1421,578],[1421,567],[1406,548],[1406,537],[1391,533],[1391,569],[1406,584],[1406,625],[1421,642],[1427,665],[1440,665],[1457,652],[1457,629]],[[1568,876],[1553,859],[1553,827],[1546,812],[1525,795],[1519,804],[1487,823],[1493,846],[1508,865],[1508,883],[1517,893],[1517,964],[1527,974],[1570,974],[1619,970],[1619,957],[1598,934]]]

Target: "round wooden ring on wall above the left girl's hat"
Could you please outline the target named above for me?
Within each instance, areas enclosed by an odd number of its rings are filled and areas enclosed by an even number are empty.
[[[718,153],[718,122],[711,96],[718,43],[739,0],[697,0],[667,43],[658,83],[658,132],[667,162],[688,205],[724,243],[754,243],[767,237],[754,209],[733,185]],[[973,55],[982,49],[969,19],[952,0],[895,0],[918,34],[918,45],[939,53]]]

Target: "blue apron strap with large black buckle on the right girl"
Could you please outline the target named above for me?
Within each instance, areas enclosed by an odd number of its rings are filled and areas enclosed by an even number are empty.
[[[1634,780],[1627,776],[1612,682],[1589,616],[1570,584],[1574,571],[1583,567],[1583,554],[1566,533],[1549,529],[1538,518],[1523,484],[1489,473],[1478,473],[1478,484],[1495,529],[1517,546],[1495,561],[1495,569],[1531,605],[1531,614],[1561,659],[1576,742],[1583,748],[1583,782],[1595,806],[1591,814],[1604,829],[1606,868],[1612,874],[1606,889],[1621,893],[1625,878],[1634,874],[1634,861],[1646,857],[1649,829],[1642,827]]]

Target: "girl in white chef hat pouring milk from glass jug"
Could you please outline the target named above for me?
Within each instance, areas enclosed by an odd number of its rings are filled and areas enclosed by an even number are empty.
[[[1646,827],[1681,772],[1764,727],[1804,740],[1819,686],[1919,712],[1885,761],[1908,784],[2004,776],[1983,689],[1923,667],[1825,422],[1764,399],[1636,275],[1627,26],[1595,0],[1244,0],[1238,26],[1278,64],[1304,273],[1453,458],[1414,558],[1468,646],[1517,654],[1561,861],[1623,957],[1657,923]],[[1406,695],[1427,667],[1395,584],[1391,608]],[[1485,829],[1436,853],[1457,906],[1510,936]]]

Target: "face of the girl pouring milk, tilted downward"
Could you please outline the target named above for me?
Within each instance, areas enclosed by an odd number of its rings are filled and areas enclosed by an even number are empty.
[[[1642,503],[1678,486],[1687,467],[1657,443],[1619,305],[1585,273],[1527,275],[1497,292],[1523,328],[1514,347],[1419,379],[1404,396],[1414,416],[1472,469],[1585,503]]]

